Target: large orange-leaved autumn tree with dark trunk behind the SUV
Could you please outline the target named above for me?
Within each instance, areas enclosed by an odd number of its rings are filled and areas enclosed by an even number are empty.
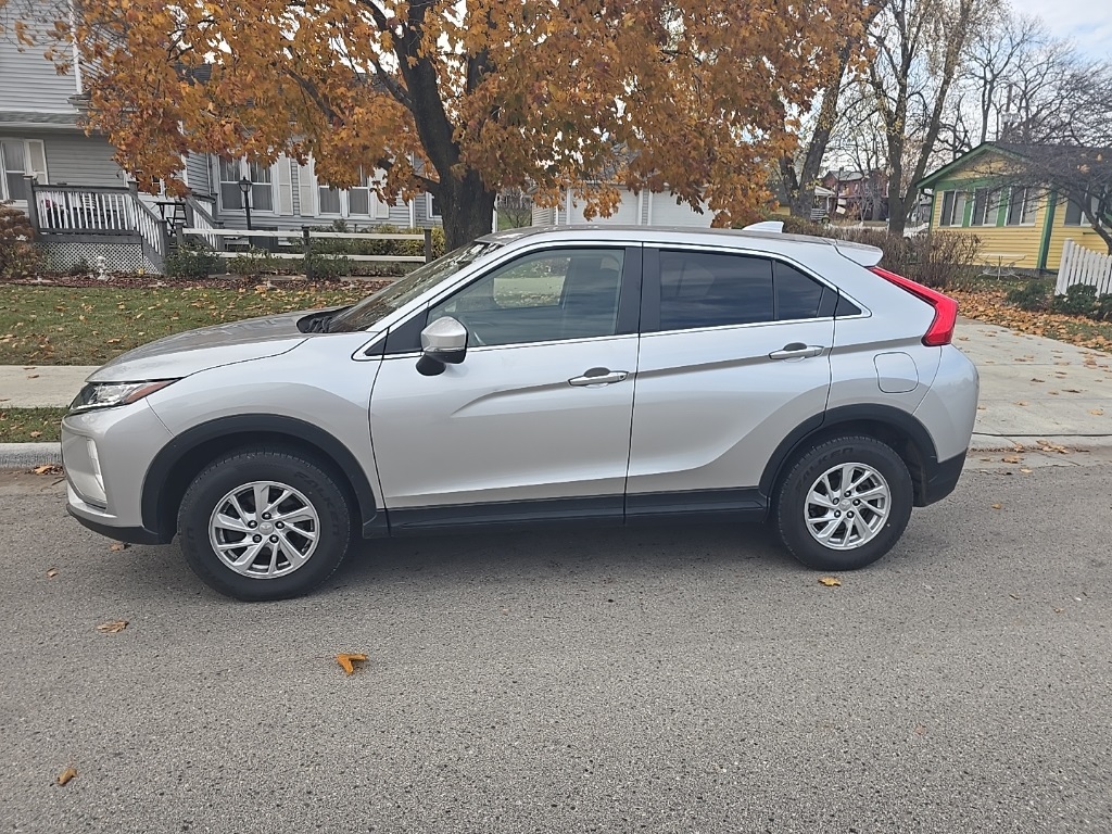
[[[864,37],[860,0],[79,9],[89,126],[126,169],[180,187],[181,156],[197,151],[311,155],[336,187],[385,171],[384,195],[437,197],[449,245],[488,231],[507,188],[542,205],[570,188],[603,214],[616,186],[671,189],[718,225],[754,217],[795,143],[784,112],[806,110]]]

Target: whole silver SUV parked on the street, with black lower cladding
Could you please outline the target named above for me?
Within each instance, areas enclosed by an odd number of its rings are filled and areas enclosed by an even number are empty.
[[[342,309],[170,336],[62,423],[68,509],[240,599],[359,539],[768,518],[802,563],[883,556],[957,481],[956,305],[881,251],[776,231],[526,229]]]

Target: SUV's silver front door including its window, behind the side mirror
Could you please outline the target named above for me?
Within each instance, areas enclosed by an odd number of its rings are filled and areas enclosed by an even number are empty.
[[[467,327],[461,363],[423,376],[414,350],[387,350],[370,425],[391,529],[620,516],[641,261],[639,247],[527,252],[423,314]]]

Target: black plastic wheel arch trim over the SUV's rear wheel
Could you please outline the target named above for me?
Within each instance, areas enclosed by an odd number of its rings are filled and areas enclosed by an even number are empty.
[[[930,473],[939,460],[931,434],[914,415],[880,404],[840,406],[797,426],[768,458],[761,476],[761,493],[771,500],[776,484],[803,449],[848,433],[866,435],[891,446],[911,474],[915,506],[930,503]]]

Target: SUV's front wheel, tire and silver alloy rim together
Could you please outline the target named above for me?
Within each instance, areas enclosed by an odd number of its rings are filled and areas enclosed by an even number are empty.
[[[244,600],[307,594],[347,555],[344,490],[311,458],[279,448],[240,449],[190,484],[178,513],[181,549],[210,587]]]

